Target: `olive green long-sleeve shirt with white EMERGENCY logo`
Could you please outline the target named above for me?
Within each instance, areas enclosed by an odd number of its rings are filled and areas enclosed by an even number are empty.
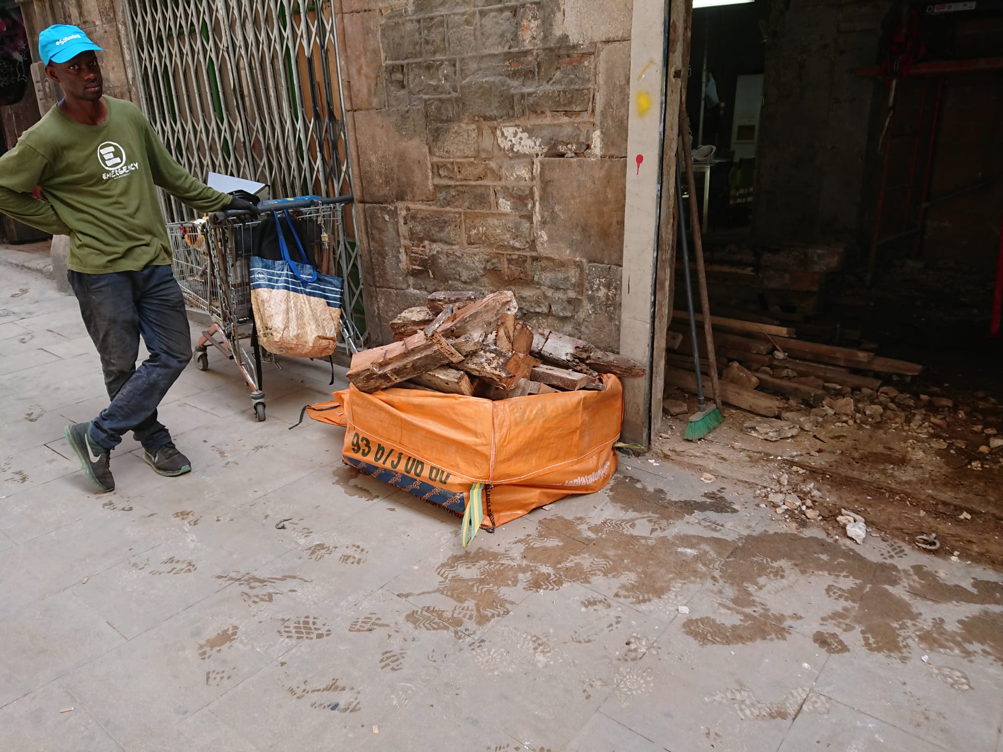
[[[70,237],[67,267],[105,274],[171,263],[159,185],[202,212],[230,197],[189,174],[168,153],[142,112],[104,97],[99,125],[53,107],[0,156],[0,212],[53,235]],[[49,204],[31,196],[41,186]]]

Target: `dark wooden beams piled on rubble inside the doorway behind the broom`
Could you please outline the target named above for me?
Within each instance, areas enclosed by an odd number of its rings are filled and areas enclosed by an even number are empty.
[[[703,321],[700,314],[698,321]],[[721,400],[758,415],[775,417],[792,403],[822,408],[854,390],[877,391],[890,375],[918,376],[923,366],[875,355],[871,350],[829,345],[797,338],[794,329],[712,316],[719,366]],[[696,392],[693,343],[688,314],[675,311],[666,355],[667,384]],[[706,372],[706,346],[699,342],[700,365]],[[780,395],[780,397],[773,396]]]

